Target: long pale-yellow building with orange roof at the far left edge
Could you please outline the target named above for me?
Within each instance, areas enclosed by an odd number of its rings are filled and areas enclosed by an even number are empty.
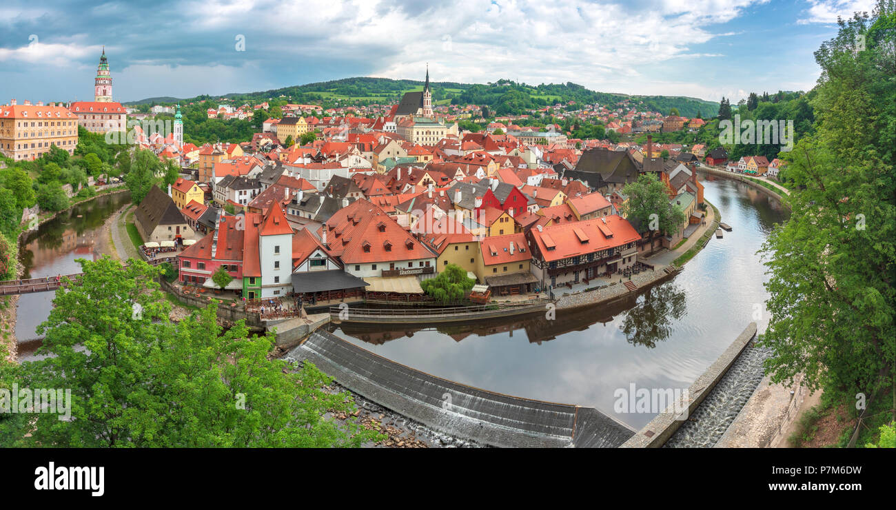
[[[0,151],[13,160],[35,160],[56,145],[69,154],[78,145],[78,117],[42,102],[0,106]]]

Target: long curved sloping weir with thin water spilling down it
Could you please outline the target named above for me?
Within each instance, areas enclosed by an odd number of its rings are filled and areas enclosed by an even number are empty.
[[[310,361],[340,385],[445,434],[502,447],[616,447],[625,424],[589,407],[461,385],[406,367],[322,330],[286,359]]]

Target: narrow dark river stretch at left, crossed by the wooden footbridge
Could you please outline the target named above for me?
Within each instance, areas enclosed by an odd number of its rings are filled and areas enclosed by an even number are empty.
[[[24,239],[19,262],[24,267],[22,278],[39,278],[80,272],[76,259],[95,260],[95,247],[106,219],[131,200],[130,194],[99,196],[90,202],[61,212],[54,220],[41,225]],[[39,345],[35,329],[49,316],[55,292],[22,294],[16,310],[15,336],[19,341],[20,359]]]

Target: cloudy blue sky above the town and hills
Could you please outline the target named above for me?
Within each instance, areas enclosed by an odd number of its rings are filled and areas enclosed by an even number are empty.
[[[717,101],[808,91],[838,15],[874,0],[4,0],[0,104],[191,98],[353,76]]]

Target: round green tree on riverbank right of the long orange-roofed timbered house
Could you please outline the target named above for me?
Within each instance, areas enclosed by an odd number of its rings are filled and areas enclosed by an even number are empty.
[[[650,232],[650,253],[653,241],[661,232],[675,232],[682,228],[685,213],[669,202],[666,185],[655,175],[642,174],[638,180],[625,185],[622,193],[628,195],[628,218],[639,221],[639,232]]]

